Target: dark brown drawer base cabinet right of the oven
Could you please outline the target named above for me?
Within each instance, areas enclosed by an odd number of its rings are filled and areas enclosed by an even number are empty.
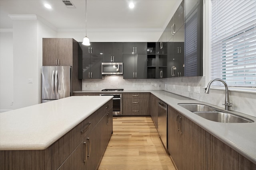
[[[123,93],[123,115],[149,115],[150,93]]]

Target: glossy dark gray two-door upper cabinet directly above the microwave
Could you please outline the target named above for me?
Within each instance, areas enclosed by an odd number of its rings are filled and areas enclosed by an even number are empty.
[[[103,43],[103,63],[123,63],[123,43]]]

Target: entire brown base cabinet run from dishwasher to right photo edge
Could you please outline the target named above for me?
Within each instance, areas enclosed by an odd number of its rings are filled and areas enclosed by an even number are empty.
[[[256,164],[170,106],[168,151],[178,170],[256,170]]]

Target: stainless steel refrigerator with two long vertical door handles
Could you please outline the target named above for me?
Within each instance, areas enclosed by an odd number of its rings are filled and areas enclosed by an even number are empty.
[[[71,66],[42,66],[42,103],[71,96],[71,78]]]

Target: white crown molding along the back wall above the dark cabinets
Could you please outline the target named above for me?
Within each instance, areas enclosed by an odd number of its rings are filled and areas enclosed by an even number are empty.
[[[85,32],[85,29],[58,29],[58,33],[65,33],[65,32]],[[139,29],[131,29],[131,28],[117,28],[117,29],[110,29],[110,28],[91,28],[87,29],[87,32],[117,32],[117,33],[122,33],[122,32],[163,32],[162,28],[139,28]]]

